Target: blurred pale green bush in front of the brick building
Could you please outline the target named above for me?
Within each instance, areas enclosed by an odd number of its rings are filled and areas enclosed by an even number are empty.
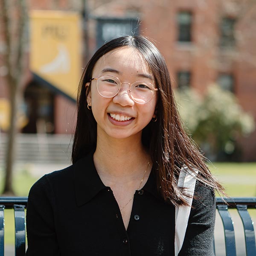
[[[242,110],[235,95],[213,84],[204,96],[195,89],[175,92],[184,126],[210,160],[239,160],[239,137],[255,130],[253,116]],[[230,158],[231,160],[234,160]]]

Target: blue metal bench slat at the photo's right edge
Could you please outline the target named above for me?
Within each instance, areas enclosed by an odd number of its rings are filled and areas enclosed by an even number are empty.
[[[253,221],[250,218],[249,212],[247,212],[247,206],[238,204],[236,205],[236,208],[239,212],[242,223],[244,225],[246,254],[256,255],[256,244],[255,244],[255,234],[253,229]]]

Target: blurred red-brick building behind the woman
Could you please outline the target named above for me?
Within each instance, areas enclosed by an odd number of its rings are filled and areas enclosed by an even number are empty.
[[[254,0],[31,0],[29,3],[30,9],[72,10],[85,17],[84,65],[104,40],[133,31],[155,42],[166,58],[174,86],[195,87],[204,93],[207,86],[217,81],[232,91],[242,108],[256,119]],[[41,93],[44,99],[37,100],[51,109],[45,117],[52,123],[49,132],[71,133],[75,102],[44,87],[43,82],[38,84],[33,76],[29,79],[30,90],[25,89],[25,98],[35,99],[38,90],[44,92]],[[36,132],[32,126],[23,131]],[[256,132],[241,143],[243,160],[255,161]]]

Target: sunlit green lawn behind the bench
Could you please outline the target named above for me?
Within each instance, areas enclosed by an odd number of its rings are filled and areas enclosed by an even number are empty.
[[[213,163],[209,168],[231,197],[256,196],[256,163]],[[2,191],[1,177],[0,190]],[[13,181],[15,193],[18,196],[27,196],[30,187],[37,179],[29,175],[26,170],[16,174]],[[14,244],[13,210],[5,211],[5,243]]]

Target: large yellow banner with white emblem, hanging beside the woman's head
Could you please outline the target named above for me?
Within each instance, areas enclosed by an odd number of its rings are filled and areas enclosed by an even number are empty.
[[[32,11],[30,69],[76,99],[82,73],[81,19],[77,13]]]

